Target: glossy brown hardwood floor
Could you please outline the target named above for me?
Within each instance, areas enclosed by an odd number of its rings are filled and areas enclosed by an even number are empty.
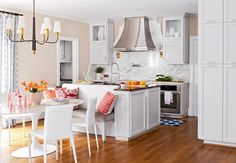
[[[76,150],[80,163],[235,163],[236,148],[204,145],[197,139],[197,119],[186,118],[186,123],[179,127],[160,126],[156,130],[130,142],[116,141],[108,138],[105,144],[99,137],[100,149],[96,149],[95,138],[91,135],[92,157],[88,157],[85,134],[76,134]],[[43,122],[40,122],[42,127]],[[27,124],[30,128],[30,124]],[[12,130],[12,146],[2,148],[2,163],[23,163],[27,159],[16,159],[10,156],[15,149],[27,145],[28,139],[22,139],[22,128]],[[7,131],[3,131],[5,134]],[[3,140],[4,144],[7,139]],[[63,155],[60,163],[74,162],[69,141],[63,141]],[[48,162],[56,162],[55,153],[48,155]],[[43,157],[33,159],[35,163],[43,162]]]

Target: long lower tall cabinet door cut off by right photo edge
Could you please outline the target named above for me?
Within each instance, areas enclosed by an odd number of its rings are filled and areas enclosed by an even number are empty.
[[[236,63],[224,66],[224,141],[236,143]]]

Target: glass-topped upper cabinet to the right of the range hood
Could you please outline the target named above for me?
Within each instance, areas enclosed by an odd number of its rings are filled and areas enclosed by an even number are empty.
[[[168,64],[188,63],[188,16],[164,17],[163,54]]]

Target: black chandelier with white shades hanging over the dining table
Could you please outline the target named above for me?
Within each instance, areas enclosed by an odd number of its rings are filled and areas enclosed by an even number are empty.
[[[6,34],[10,41],[12,42],[32,42],[32,51],[33,54],[36,53],[36,45],[44,45],[44,44],[54,44],[57,43],[61,33],[61,23],[59,21],[55,21],[53,32],[56,33],[56,40],[49,41],[49,31],[52,29],[51,20],[49,17],[44,18],[44,22],[41,26],[40,34],[43,35],[43,40],[37,40],[36,38],[36,16],[35,16],[35,0],[33,0],[33,24],[32,24],[32,39],[25,39],[25,29],[26,29],[26,22],[23,16],[19,16],[19,22],[17,27],[17,34],[19,34],[19,40],[14,40],[13,36],[13,19],[8,18],[6,22]]]

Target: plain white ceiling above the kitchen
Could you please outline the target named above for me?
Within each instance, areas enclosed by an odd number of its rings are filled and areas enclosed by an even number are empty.
[[[36,0],[36,10],[52,16],[91,21],[197,13],[198,0]],[[0,6],[31,11],[33,0],[0,0]]]

